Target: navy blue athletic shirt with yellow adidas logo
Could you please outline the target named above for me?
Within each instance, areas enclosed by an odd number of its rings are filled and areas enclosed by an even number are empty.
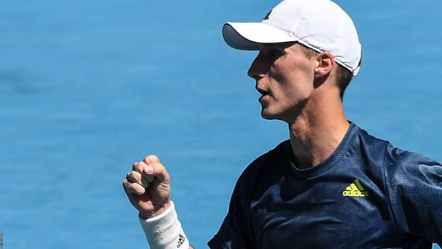
[[[431,248],[442,245],[442,166],[351,123],[306,170],[290,141],[239,177],[210,248]]]

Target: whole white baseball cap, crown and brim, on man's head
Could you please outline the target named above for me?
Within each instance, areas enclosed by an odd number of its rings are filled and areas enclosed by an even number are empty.
[[[359,71],[362,47],[356,27],[331,0],[284,0],[261,23],[225,23],[222,36],[239,50],[296,41],[317,52],[331,52],[353,75]]]

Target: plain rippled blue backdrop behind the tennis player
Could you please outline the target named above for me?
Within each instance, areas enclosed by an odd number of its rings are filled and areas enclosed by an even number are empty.
[[[337,1],[363,65],[348,119],[442,160],[439,0]],[[121,187],[159,155],[191,243],[205,248],[239,174],[288,138],[264,121],[226,21],[278,1],[0,1],[0,233],[5,248],[147,248]]]

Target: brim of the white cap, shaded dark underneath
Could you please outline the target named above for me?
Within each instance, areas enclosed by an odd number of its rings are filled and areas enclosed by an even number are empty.
[[[299,40],[266,23],[225,23],[222,27],[222,37],[227,45],[238,50],[258,50],[258,45],[263,43]]]

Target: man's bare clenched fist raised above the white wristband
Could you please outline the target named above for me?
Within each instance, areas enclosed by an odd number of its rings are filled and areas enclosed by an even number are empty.
[[[142,218],[158,216],[171,205],[170,177],[156,155],[148,155],[132,165],[123,189]]]

